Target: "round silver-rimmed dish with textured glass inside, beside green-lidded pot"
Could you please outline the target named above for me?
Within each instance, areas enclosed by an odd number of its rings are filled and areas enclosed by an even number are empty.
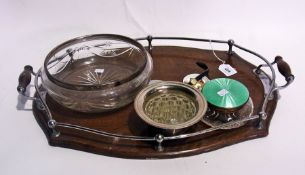
[[[207,102],[189,85],[164,81],[142,89],[135,98],[134,108],[148,125],[175,135],[202,119]]]

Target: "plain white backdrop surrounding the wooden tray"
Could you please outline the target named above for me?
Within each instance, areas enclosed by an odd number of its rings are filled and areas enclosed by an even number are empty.
[[[0,0],[0,22],[2,175],[305,174],[305,1]],[[262,139],[168,160],[51,147],[32,112],[16,109],[17,78],[26,64],[37,70],[56,45],[92,33],[233,38],[270,61],[280,54],[296,80],[281,91],[270,134]]]

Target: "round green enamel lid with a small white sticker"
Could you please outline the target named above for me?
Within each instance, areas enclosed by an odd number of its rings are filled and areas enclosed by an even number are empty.
[[[249,99],[247,87],[241,82],[229,78],[210,80],[204,85],[201,92],[211,105],[223,109],[241,107]]]

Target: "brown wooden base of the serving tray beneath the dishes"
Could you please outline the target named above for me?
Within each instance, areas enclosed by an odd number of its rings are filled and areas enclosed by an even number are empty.
[[[248,63],[237,54],[229,55],[225,51],[215,51],[216,54],[236,68],[237,74],[230,78],[244,83],[253,100],[254,112],[258,114],[264,100],[264,87],[262,82],[253,73],[254,65]],[[210,79],[225,77],[219,70],[220,62],[213,56],[210,50],[185,48],[176,46],[155,46],[152,53],[154,72],[153,80],[182,81],[183,77],[191,73],[201,73],[202,69],[196,66],[197,61],[206,63],[210,69]],[[163,151],[155,149],[155,142],[132,141],[111,138],[79,131],[69,128],[58,128],[60,136],[52,136],[52,130],[47,125],[47,116],[44,111],[33,103],[33,113],[44,131],[48,142],[52,146],[71,148],[96,154],[122,158],[174,158],[196,155],[216,150],[242,141],[260,138],[268,135],[269,124],[276,108],[277,95],[268,102],[267,119],[263,122],[263,128],[258,129],[257,120],[250,121],[246,125],[231,129],[218,130],[197,137],[176,141],[164,141]],[[122,109],[108,113],[86,114],[71,111],[46,97],[47,104],[57,122],[80,125],[92,129],[110,133],[155,136],[157,133],[139,119],[134,111],[133,104]],[[195,132],[209,128],[202,122],[194,125],[187,132]]]

